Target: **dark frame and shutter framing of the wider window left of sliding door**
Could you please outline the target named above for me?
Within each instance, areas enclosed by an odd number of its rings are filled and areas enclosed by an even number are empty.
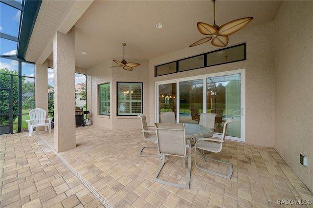
[[[129,100],[121,100],[119,96],[119,87],[120,86],[127,86],[129,87],[128,94],[130,94]],[[132,100],[132,88],[131,86],[140,86],[141,87],[141,95],[140,100]],[[131,93],[130,93],[131,92]],[[123,92],[125,93],[125,92]],[[120,110],[121,103],[129,103],[129,112],[124,112]],[[140,103],[140,112],[132,112],[132,104],[134,103]],[[140,82],[116,82],[116,116],[137,116],[143,112],[143,83]]]

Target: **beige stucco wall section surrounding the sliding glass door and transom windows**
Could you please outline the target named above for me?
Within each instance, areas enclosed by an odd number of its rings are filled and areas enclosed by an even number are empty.
[[[229,36],[228,46],[246,42],[246,61],[228,63],[203,69],[154,77],[155,65],[185,57],[221,49],[210,42],[166,54],[150,60],[150,101],[155,100],[155,82],[182,77],[211,74],[236,69],[246,69],[246,143],[274,146],[274,71],[273,71],[273,22],[242,29]],[[150,115],[155,114],[155,102],[151,102]],[[155,117],[150,117],[150,123]]]

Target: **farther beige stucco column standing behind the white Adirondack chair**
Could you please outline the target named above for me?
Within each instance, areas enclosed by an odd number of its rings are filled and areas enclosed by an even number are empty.
[[[35,106],[48,112],[48,62],[35,64]],[[48,113],[46,115],[48,118]],[[45,130],[44,126],[36,127],[36,131]]]

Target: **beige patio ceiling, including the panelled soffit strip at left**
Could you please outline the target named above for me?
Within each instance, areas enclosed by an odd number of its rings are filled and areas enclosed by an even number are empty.
[[[121,61],[123,42],[126,43],[126,61],[149,60],[186,48],[205,37],[197,30],[198,21],[211,25],[214,21],[211,0],[94,0],[91,4],[91,1],[85,1],[83,5],[73,1],[43,2],[38,18],[46,21],[36,21],[25,59],[32,62],[47,59],[52,52],[53,32],[60,31],[60,28],[67,32],[75,24],[75,65],[83,68],[112,58]],[[55,4],[62,9],[52,18],[54,13],[47,11],[54,11]],[[217,0],[215,4],[216,24],[219,26],[236,19],[253,17],[244,30],[274,20],[281,0]],[[49,20],[57,23],[43,37],[40,32],[46,31]],[[163,27],[157,29],[157,23],[162,23]],[[43,38],[46,41],[36,43],[36,39]],[[36,44],[47,46],[35,47]],[[32,54],[32,48],[37,48],[36,54]],[[81,51],[86,54],[82,55]]]

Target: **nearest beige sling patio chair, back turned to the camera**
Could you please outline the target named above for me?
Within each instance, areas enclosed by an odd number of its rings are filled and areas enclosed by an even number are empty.
[[[154,176],[153,180],[167,186],[189,189],[191,173],[191,147],[190,140],[186,141],[185,139],[185,126],[183,124],[164,124],[164,123],[157,123],[155,125],[156,125],[157,147],[158,151],[161,153],[162,163],[157,169],[156,175]],[[166,173],[163,173],[162,176],[158,178],[165,164],[165,155],[177,156],[182,158],[183,168],[186,168],[185,159],[188,157],[188,169],[185,184],[169,182],[169,180],[167,181],[162,180],[161,178],[164,178]],[[165,178],[168,178],[168,176],[165,176]],[[180,181],[180,179],[178,178],[175,178],[174,180]]]

